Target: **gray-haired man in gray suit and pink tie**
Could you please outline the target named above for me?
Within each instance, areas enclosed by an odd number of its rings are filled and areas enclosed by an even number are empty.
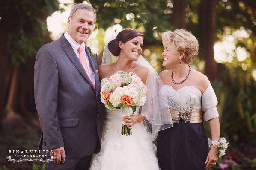
[[[88,169],[101,146],[104,105],[100,101],[97,56],[85,41],[96,14],[75,4],[68,31],[39,49],[35,63],[35,101],[42,127],[39,149],[51,150],[48,170]]]

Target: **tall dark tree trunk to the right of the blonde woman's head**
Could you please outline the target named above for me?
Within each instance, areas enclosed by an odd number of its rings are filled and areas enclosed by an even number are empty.
[[[202,0],[202,55],[205,59],[205,75],[214,81],[217,75],[217,63],[214,60],[214,42],[217,28],[217,0]]]

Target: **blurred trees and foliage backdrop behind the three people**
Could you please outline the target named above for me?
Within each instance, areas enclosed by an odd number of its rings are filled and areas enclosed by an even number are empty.
[[[255,0],[19,0],[0,6],[0,127],[39,129],[33,96],[37,50],[66,29],[71,5],[97,12],[86,44],[101,57],[113,30],[143,32],[143,56],[160,72],[161,33],[184,28],[199,40],[191,63],[208,76],[219,101],[221,135],[238,147],[256,143]],[[50,38],[51,37],[51,38]],[[100,61],[100,59],[99,59]],[[207,126],[207,125],[206,125]]]

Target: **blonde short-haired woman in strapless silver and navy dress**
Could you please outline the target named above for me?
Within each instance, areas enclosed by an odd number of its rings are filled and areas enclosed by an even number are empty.
[[[168,99],[173,127],[158,133],[157,156],[162,170],[205,170],[217,162],[220,123],[217,98],[208,78],[189,63],[198,54],[196,37],[184,29],[162,35],[164,82],[162,97]],[[209,121],[212,146],[203,123]]]

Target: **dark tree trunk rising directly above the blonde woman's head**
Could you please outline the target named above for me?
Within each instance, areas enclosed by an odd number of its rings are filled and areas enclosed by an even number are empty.
[[[174,28],[185,28],[186,0],[173,0],[173,25]]]

